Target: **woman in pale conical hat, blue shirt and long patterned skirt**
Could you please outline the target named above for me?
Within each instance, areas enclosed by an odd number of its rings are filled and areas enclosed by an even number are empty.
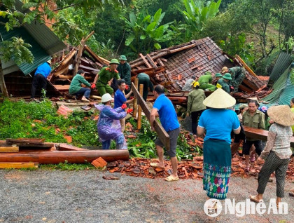
[[[197,133],[203,135],[203,189],[209,198],[227,197],[231,175],[231,132],[240,133],[237,114],[227,109],[236,104],[234,97],[218,88],[209,95],[203,104],[211,109],[205,110],[197,127]]]

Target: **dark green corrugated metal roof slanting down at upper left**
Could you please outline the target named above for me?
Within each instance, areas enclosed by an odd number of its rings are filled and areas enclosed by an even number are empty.
[[[28,11],[28,9],[26,11],[22,9],[22,2],[18,0],[15,1],[15,8],[18,11],[22,11],[22,13]],[[23,63],[18,66],[24,74],[33,71],[38,65],[49,60],[50,55],[57,53],[59,50],[66,47],[48,27],[37,21],[31,22],[31,24],[26,24],[23,27],[15,28],[9,32],[7,32],[6,28],[1,25],[0,34],[3,40],[18,36],[22,37],[26,43],[31,44],[29,50],[31,50],[31,53],[34,55],[34,62],[32,64]],[[10,72],[17,70],[15,66],[14,62],[4,62],[2,64],[2,67],[5,67],[3,70],[4,74],[9,74]]]

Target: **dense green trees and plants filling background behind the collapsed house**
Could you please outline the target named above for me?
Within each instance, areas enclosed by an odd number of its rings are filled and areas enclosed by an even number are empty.
[[[120,54],[130,60],[138,53],[210,36],[225,52],[238,54],[255,72],[267,75],[279,52],[290,53],[294,36],[294,0],[91,0],[24,1],[31,13],[15,11],[14,0],[0,11],[7,30],[53,19],[55,33],[74,46],[92,30],[87,44],[107,59]],[[30,60],[29,57],[27,57]]]

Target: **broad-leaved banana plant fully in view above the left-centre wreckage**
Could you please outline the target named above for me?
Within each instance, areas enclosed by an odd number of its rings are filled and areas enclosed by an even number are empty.
[[[130,18],[124,18],[127,26],[130,28],[130,34],[125,41],[126,46],[130,46],[136,53],[160,49],[160,43],[165,43],[172,39],[175,32],[169,29],[169,26],[174,22],[168,22],[160,25],[165,13],[162,13],[161,8],[154,15],[149,15],[145,12],[140,12],[135,15],[130,13]]]

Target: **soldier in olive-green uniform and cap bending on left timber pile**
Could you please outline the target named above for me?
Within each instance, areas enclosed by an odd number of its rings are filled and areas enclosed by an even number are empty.
[[[120,79],[120,75],[118,75],[118,71],[116,68],[118,67],[118,60],[112,59],[109,62],[109,67],[103,67],[99,72],[99,78],[96,83],[96,88],[100,93],[100,96],[109,93],[113,95],[113,88],[109,86],[109,82],[113,80],[113,78]]]

